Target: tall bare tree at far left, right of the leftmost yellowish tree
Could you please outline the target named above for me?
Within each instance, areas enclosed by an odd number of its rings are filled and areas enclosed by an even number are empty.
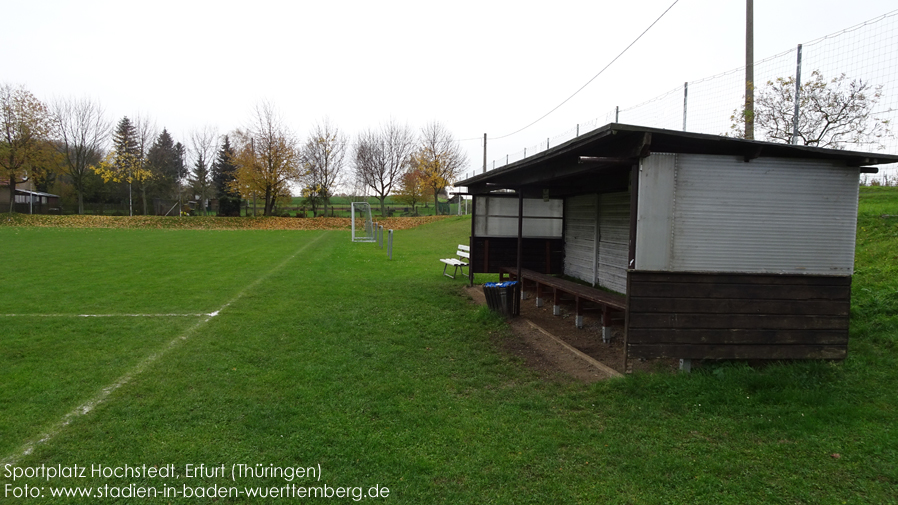
[[[84,192],[91,166],[103,158],[111,123],[103,107],[89,98],[66,98],[53,104],[58,142],[54,145],[62,155],[61,170],[72,178],[78,193],[78,214],[84,214]]]

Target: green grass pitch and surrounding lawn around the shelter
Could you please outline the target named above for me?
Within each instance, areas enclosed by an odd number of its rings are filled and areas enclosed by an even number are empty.
[[[0,502],[898,503],[895,215],[862,188],[845,362],[590,385],[504,354],[504,322],[440,275],[469,218],[397,231],[392,261],[348,230],[0,226]],[[42,465],[88,470],[10,475]],[[50,496],[76,486],[94,497]]]

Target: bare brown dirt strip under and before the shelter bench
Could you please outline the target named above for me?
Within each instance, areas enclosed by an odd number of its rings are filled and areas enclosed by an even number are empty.
[[[463,289],[472,303],[486,304],[482,285],[465,286]],[[670,359],[629,360],[625,370],[624,328],[621,321],[615,321],[611,342],[606,344],[602,342],[598,312],[587,312],[583,318],[583,328],[578,329],[574,324],[573,304],[562,303],[561,315],[555,316],[552,315],[551,300],[537,307],[534,293],[527,295],[527,299],[521,301],[521,315],[508,320],[514,338],[502,344],[506,352],[522,358],[529,368],[546,378],[568,376],[583,382],[594,382],[635,370],[672,373],[679,366],[676,360]],[[600,366],[589,363],[546,333],[598,361]]]

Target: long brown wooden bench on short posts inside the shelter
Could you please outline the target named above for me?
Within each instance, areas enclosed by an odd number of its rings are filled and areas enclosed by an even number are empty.
[[[499,280],[517,277],[517,269],[513,267],[502,267],[499,269]],[[561,295],[567,294],[574,297],[577,317],[575,323],[577,328],[583,327],[584,303],[593,303],[601,307],[602,310],[602,340],[607,342],[611,338],[611,315],[613,312],[624,312],[627,310],[627,297],[617,293],[609,293],[600,289],[577,284],[566,279],[555,277],[553,275],[539,273],[533,270],[521,270],[523,280],[522,288],[530,282],[536,286],[536,306],[541,307],[543,304],[543,292],[546,289],[552,291],[552,313],[556,316],[560,315],[559,302]]]

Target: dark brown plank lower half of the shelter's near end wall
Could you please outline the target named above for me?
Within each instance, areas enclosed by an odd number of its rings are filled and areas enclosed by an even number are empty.
[[[844,359],[850,276],[627,276],[629,358]]]

